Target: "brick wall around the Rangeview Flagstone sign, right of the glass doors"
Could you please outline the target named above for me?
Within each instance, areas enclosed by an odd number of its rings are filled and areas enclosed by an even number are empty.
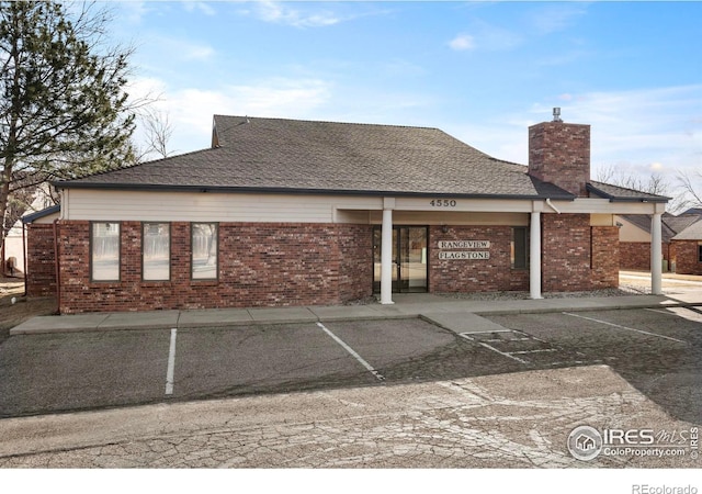
[[[529,289],[529,270],[511,269],[509,226],[441,226],[429,228],[429,290],[437,293]],[[439,259],[441,240],[490,240],[489,259]],[[444,249],[466,250],[466,249]]]

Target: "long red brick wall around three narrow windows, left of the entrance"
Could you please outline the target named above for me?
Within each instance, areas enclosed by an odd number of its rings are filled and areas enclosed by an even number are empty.
[[[172,223],[166,282],[141,280],[139,222],[121,223],[121,280],[91,282],[89,226],[60,225],[63,313],[338,304],[372,289],[370,226],[219,223],[219,278],[191,280],[190,223]]]

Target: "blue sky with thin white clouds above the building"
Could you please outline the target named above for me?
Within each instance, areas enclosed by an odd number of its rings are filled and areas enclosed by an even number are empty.
[[[178,153],[220,113],[439,127],[526,164],[526,127],[561,106],[592,126],[596,179],[702,170],[702,2],[111,5]]]

